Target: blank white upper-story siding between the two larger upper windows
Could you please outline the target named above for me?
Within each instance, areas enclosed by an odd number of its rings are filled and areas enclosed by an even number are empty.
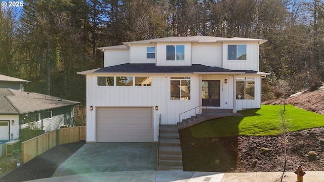
[[[222,67],[222,43],[192,43],[192,64]]]

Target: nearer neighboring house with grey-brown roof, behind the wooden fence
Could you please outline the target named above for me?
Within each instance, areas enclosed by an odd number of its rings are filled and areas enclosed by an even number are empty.
[[[0,140],[19,139],[21,131],[34,123],[45,132],[62,125],[73,126],[78,102],[37,93],[0,88]]]

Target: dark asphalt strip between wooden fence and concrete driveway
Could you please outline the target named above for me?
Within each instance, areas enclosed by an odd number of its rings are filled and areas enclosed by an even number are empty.
[[[56,146],[26,162],[19,168],[14,169],[12,172],[0,178],[0,181],[20,182],[51,177],[56,168],[85,143],[85,141],[80,141]]]

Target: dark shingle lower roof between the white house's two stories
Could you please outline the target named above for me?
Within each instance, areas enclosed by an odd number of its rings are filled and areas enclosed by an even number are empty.
[[[156,66],[152,64],[121,64],[100,68],[94,73],[229,73],[242,72],[237,70],[229,70],[213,66],[205,66],[201,64],[193,64],[191,66]]]

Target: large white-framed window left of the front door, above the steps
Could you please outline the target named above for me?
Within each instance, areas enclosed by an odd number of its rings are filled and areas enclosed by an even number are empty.
[[[190,76],[171,77],[171,100],[190,100]]]

